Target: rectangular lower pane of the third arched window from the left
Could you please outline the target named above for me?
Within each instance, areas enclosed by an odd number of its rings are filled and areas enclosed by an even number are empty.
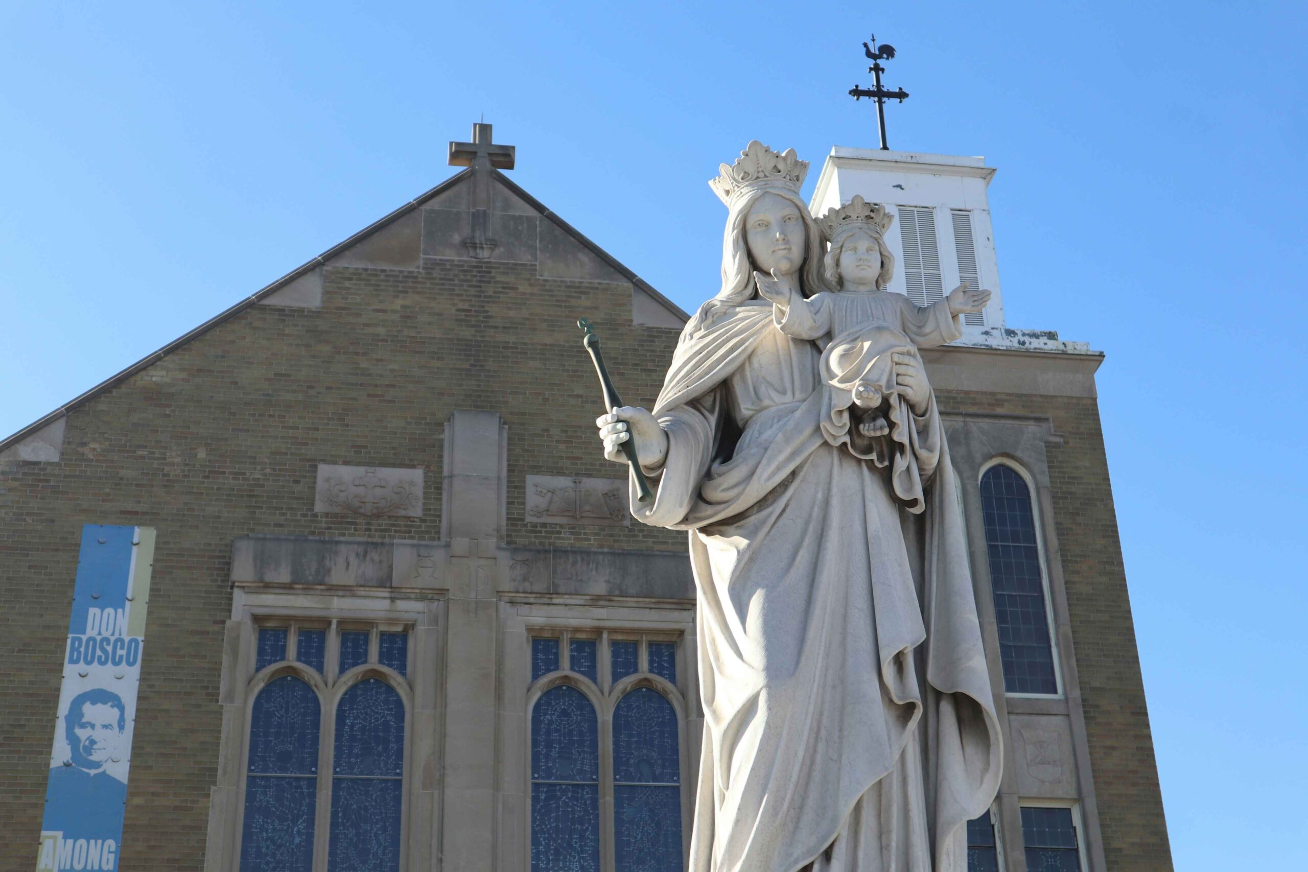
[[[599,786],[532,784],[531,872],[598,869]]]

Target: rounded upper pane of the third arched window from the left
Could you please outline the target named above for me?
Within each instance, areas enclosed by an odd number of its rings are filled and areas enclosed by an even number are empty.
[[[581,690],[551,688],[531,710],[531,779],[599,780],[595,707]]]

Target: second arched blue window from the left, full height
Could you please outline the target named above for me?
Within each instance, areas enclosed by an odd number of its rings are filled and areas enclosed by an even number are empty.
[[[365,679],[336,705],[328,869],[399,868],[403,779],[404,702],[385,681]]]

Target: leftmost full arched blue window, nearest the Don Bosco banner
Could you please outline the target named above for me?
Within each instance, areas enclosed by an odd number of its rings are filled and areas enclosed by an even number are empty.
[[[250,714],[241,869],[307,872],[318,794],[318,694],[302,680],[281,676],[259,692]]]

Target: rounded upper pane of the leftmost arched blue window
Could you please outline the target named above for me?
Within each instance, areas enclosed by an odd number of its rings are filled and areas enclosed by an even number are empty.
[[[246,771],[262,775],[317,773],[319,714],[318,694],[300,679],[286,675],[269,681],[255,697],[250,713]]]

